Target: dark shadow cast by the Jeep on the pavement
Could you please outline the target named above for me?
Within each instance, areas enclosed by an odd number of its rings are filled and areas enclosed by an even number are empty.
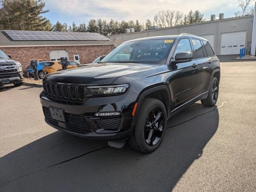
[[[151,154],[60,131],[0,158],[0,191],[171,191],[218,129],[217,106],[173,116]]]

